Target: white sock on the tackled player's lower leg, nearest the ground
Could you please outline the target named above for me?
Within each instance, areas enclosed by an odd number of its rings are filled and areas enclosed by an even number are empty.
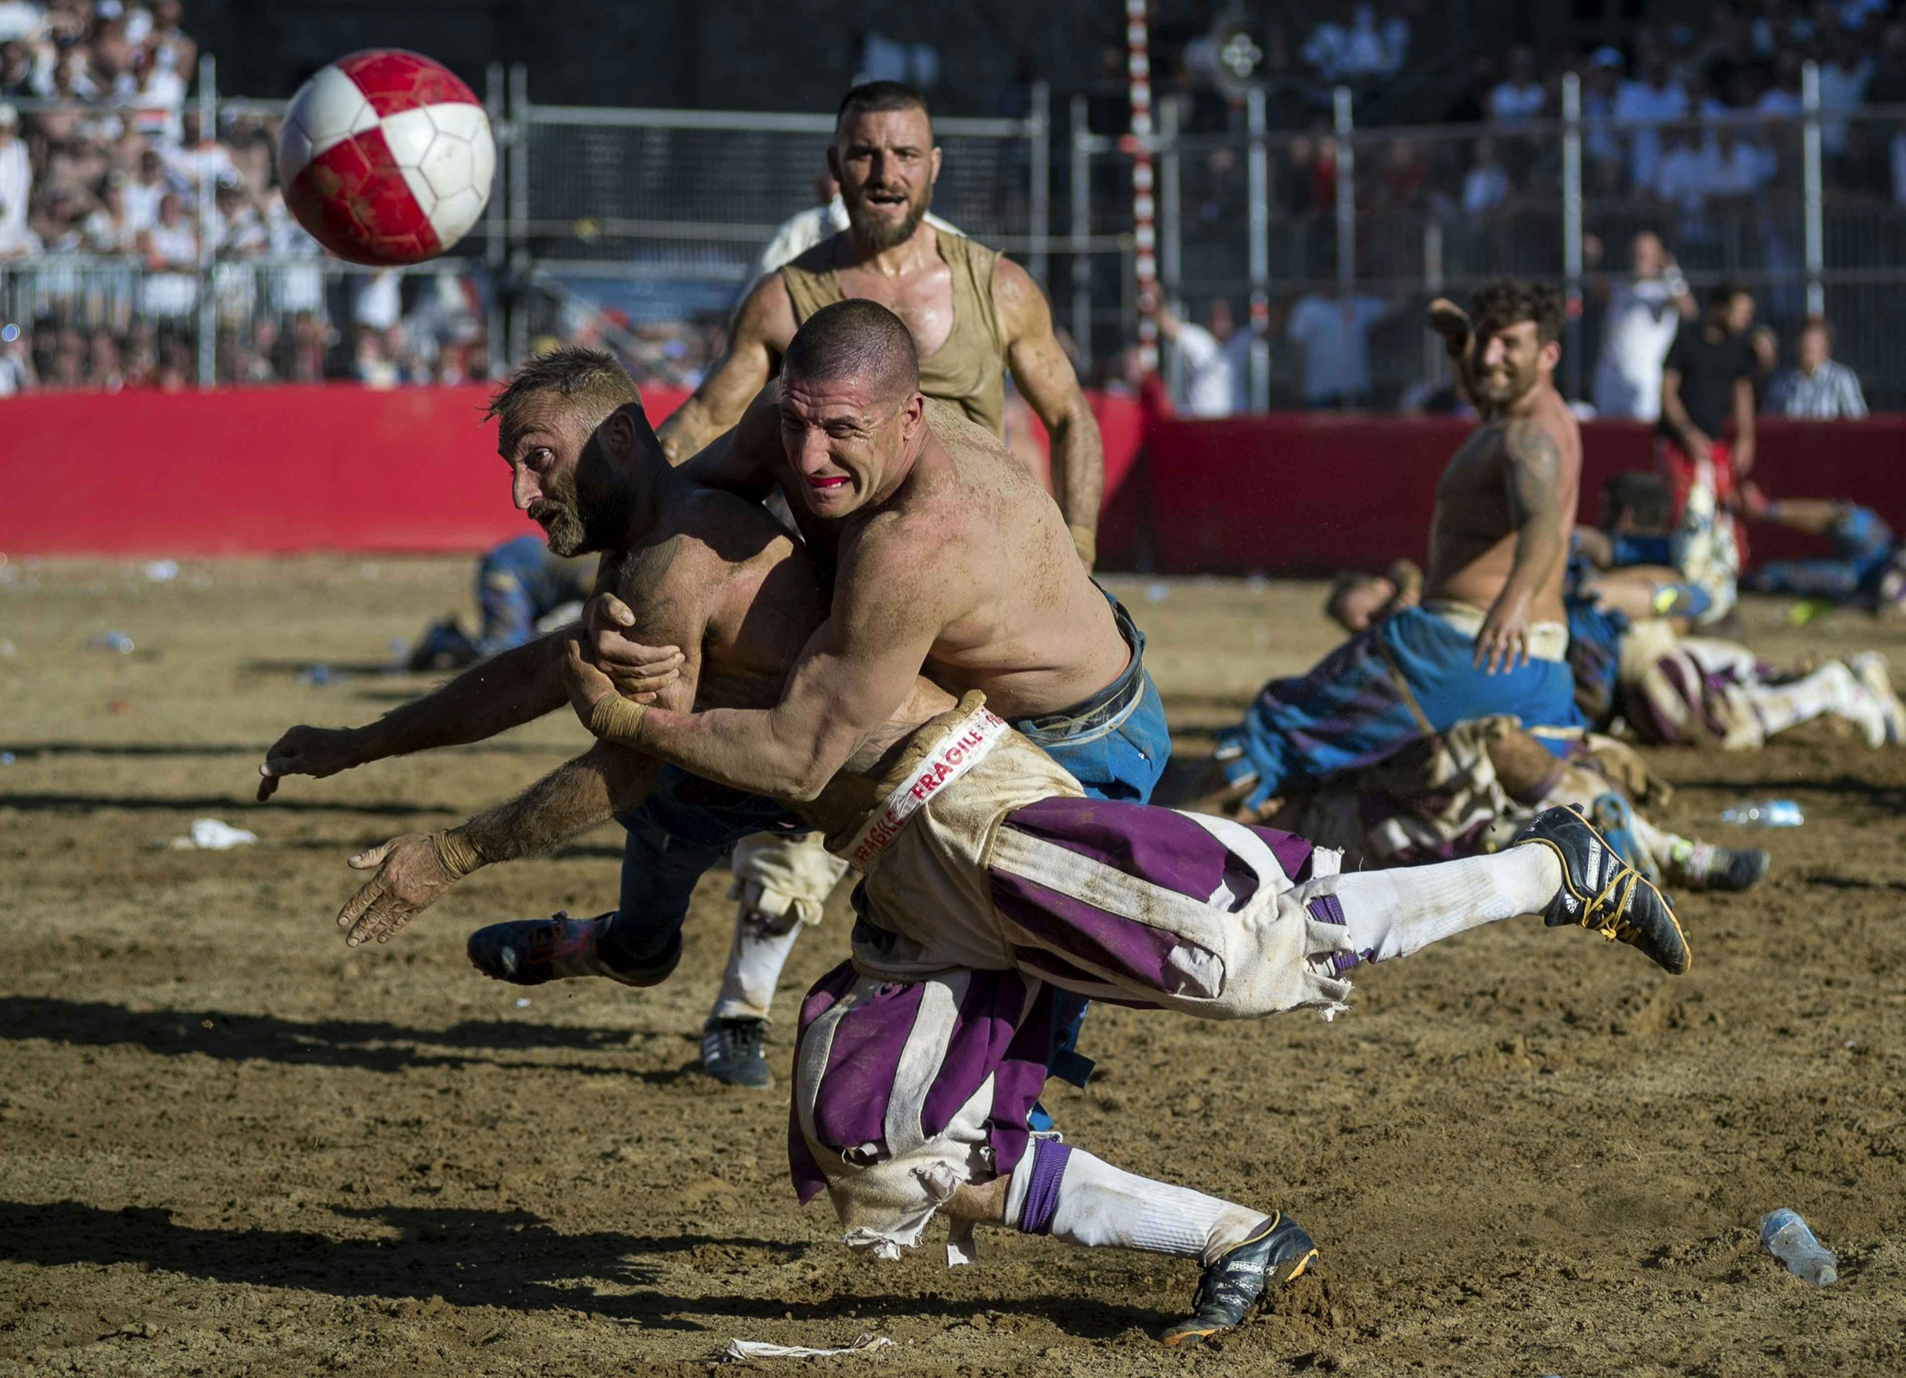
[[[1058,1201],[1035,1201],[1039,1220],[1025,1220],[1027,1182],[1044,1157],[1064,1153],[1058,1182]],[[1111,1166],[1085,1149],[1039,1140],[1012,1172],[1006,1193],[1006,1224],[1018,1229],[1050,1233],[1069,1245],[1086,1248],[1138,1248],[1147,1254],[1172,1254],[1210,1264],[1227,1248],[1250,1239],[1267,1218],[1231,1201],[1206,1197],[1203,1191],[1153,1182],[1136,1172]]]

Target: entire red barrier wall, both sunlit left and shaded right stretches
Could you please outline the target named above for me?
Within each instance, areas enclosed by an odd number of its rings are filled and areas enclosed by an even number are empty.
[[[236,555],[471,551],[536,528],[509,505],[488,389],[267,387],[38,395],[0,402],[0,551]],[[680,389],[644,389],[650,417]],[[1105,440],[1107,568],[1149,541],[1172,574],[1328,574],[1422,558],[1435,478],[1468,427],[1449,419],[1281,414],[1157,421],[1092,396]],[[1643,425],[1582,429],[1584,501],[1653,463]],[[1906,417],[1767,421],[1774,496],[1856,497],[1906,532]],[[1815,549],[1754,528],[1757,555]]]

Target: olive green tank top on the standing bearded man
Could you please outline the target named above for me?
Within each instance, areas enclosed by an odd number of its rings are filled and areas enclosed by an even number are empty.
[[[940,349],[921,358],[921,391],[953,402],[972,421],[1004,436],[1006,341],[993,309],[993,265],[999,253],[959,234],[936,234],[940,257],[953,269],[953,330]],[[844,299],[841,280],[829,267],[833,255],[835,240],[827,238],[781,269],[797,326],[821,307]]]

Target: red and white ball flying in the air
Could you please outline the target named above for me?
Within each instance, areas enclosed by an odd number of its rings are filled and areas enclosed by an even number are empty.
[[[341,259],[421,263],[469,233],[490,200],[496,141],[450,69],[374,48],[292,97],[278,137],[284,204]]]

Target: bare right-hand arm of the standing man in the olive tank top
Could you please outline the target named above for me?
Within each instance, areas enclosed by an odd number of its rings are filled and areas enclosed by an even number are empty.
[[[1052,438],[1052,497],[1065,513],[1073,545],[1092,568],[1098,509],[1105,496],[1105,448],[1079,375],[1052,334],[1052,309],[1018,263],[999,261],[993,301],[1006,335],[1006,368]]]

